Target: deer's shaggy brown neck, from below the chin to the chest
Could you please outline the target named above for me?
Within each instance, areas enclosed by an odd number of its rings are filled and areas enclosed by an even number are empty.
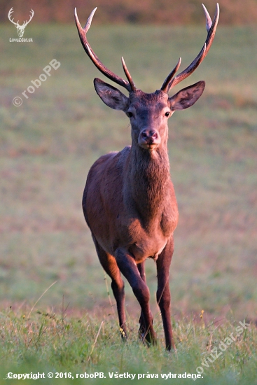
[[[142,218],[156,218],[158,211],[161,215],[169,197],[167,144],[162,144],[151,152],[132,144],[127,183],[134,205]]]

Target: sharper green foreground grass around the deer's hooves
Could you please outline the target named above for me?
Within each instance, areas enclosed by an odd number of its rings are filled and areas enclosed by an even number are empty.
[[[85,379],[76,379],[76,374],[102,372],[106,379],[95,380],[95,383],[111,384],[109,372],[128,372],[136,374],[136,383],[152,381],[159,384],[164,381],[161,374],[200,372],[202,377],[197,382],[201,384],[239,384],[238,379],[240,384],[256,384],[257,336],[253,325],[246,325],[236,337],[239,324],[235,322],[226,321],[218,328],[215,323],[206,325],[204,318],[201,323],[192,318],[181,318],[179,322],[173,322],[177,350],[170,354],[163,349],[163,341],[151,348],[141,344],[130,317],[127,343],[120,341],[113,315],[104,316],[101,321],[85,312],[67,314],[63,307],[59,314],[34,311],[28,318],[20,310],[10,309],[0,317],[4,342],[0,352],[6,360],[0,371],[2,378],[9,372],[66,372],[71,373],[76,383],[83,383]],[[160,317],[155,327],[162,334]],[[229,336],[233,338],[230,342]],[[224,348],[225,341],[229,344],[227,348]],[[211,351],[217,351],[218,358],[216,354],[211,356]],[[145,378],[138,377],[139,374],[145,374]],[[148,379],[146,374],[157,374],[158,379]],[[22,381],[30,384],[34,380]],[[44,379],[42,383],[51,384],[51,381]],[[116,381],[123,384],[125,380]],[[193,380],[172,379],[172,382],[192,384]]]

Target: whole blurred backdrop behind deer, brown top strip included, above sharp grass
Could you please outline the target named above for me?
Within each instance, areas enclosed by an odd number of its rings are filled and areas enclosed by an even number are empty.
[[[204,4],[213,18],[216,2]],[[205,41],[205,20],[200,0],[0,1],[1,308],[31,308],[46,290],[38,309],[59,311],[64,302],[74,312],[108,316],[110,281],[97,260],[81,197],[92,163],[130,144],[130,126],[95,94],[92,80],[103,76],[81,47],[75,6],[81,25],[99,7],[88,33],[92,48],[120,76],[124,56],[145,92],[160,88],[180,56],[181,69],[190,64]],[[20,25],[34,10],[23,36],[31,42],[14,41],[11,7]],[[172,314],[198,319],[204,310],[211,320],[256,321],[257,3],[223,0],[220,8],[207,58],[179,85],[205,80],[204,94],[169,120],[180,211]],[[49,71],[53,59],[60,66]],[[146,274],[155,315],[152,260]],[[127,312],[139,314],[128,284],[126,293]]]

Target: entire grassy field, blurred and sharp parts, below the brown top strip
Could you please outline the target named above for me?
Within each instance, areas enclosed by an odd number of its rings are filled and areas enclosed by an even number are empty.
[[[180,211],[171,269],[172,355],[163,347],[153,261],[146,263],[146,274],[159,344],[146,349],[138,342],[139,307],[128,285],[130,342],[121,344],[110,281],[81,210],[92,162],[130,144],[127,118],[95,94],[92,79],[103,76],[83,52],[74,26],[31,26],[26,33],[33,43],[11,43],[16,30],[1,27],[1,378],[6,370],[32,368],[105,372],[107,378],[95,383],[108,383],[108,372],[116,371],[195,373],[245,319],[250,326],[204,366],[197,382],[257,384],[257,29],[218,29],[204,63],[183,84],[206,80],[202,98],[169,121]],[[205,39],[203,26],[92,26],[89,36],[100,59],[121,76],[123,55],[146,92],[160,88],[179,56],[188,65]],[[26,99],[22,92],[53,59],[60,68]],[[14,97],[22,98],[22,106],[13,106]]]

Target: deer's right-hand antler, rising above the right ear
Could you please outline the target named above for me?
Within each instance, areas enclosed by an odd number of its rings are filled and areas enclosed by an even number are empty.
[[[165,79],[164,83],[162,84],[162,87],[160,88],[162,91],[168,93],[170,88],[174,87],[176,84],[180,83],[182,80],[186,79],[188,76],[190,76],[195,69],[197,69],[197,66],[202,62],[204,57],[207,55],[207,52],[209,51],[209,48],[211,47],[211,43],[214,41],[214,36],[216,32],[216,27],[218,25],[218,17],[219,17],[219,6],[218,3],[216,4],[216,13],[214,16],[214,21],[211,21],[210,15],[205,8],[205,6],[202,4],[204,8],[204,13],[205,13],[205,18],[206,18],[206,29],[207,29],[207,38],[206,41],[202,47],[202,50],[200,50],[199,54],[193,62],[186,68],[184,69],[179,75],[176,75],[175,77],[174,74],[176,71],[178,71],[179,66],[181,64],[181,58],[179,59],[178,64],[176,64],[175,68],[172,70],[171,73],[167,76]]]

